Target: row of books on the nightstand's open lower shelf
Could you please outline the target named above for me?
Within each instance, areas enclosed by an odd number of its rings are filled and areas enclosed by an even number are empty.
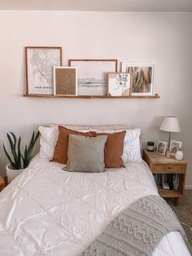
[[[179,188],[180,174],[153,174],[153,176],[158,187],[174,190]]]

